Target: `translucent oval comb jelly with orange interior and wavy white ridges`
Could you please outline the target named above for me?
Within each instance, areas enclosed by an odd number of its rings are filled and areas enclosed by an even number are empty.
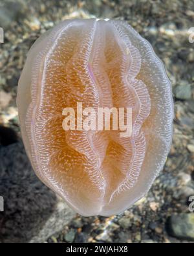
[[[65,131],[63,108],[132,108],[131,137]],[[173,100],[162,62],[123,21],[67,20],[28,52],[17,106],[38,177],[84,216],[122,213],[149,190],[171,145]]]

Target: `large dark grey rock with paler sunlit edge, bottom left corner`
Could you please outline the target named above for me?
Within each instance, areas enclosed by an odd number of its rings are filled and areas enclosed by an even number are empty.
[[[45,242],[75,213],[34,174],[22,143],[0,147],[0,242]]]

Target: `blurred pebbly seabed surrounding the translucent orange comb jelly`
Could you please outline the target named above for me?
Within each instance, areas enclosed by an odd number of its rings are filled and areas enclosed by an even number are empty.
[[[19,131],[17,82],[27,52],[46,30],[76,17],[128,21],[151,43],[173,86],[173,145],[164,170],[142,200],[109,218],[76,215],[47,189],[30,167]],[[0,242],[192,242],[194,1],[0,0],[0,27]]]

